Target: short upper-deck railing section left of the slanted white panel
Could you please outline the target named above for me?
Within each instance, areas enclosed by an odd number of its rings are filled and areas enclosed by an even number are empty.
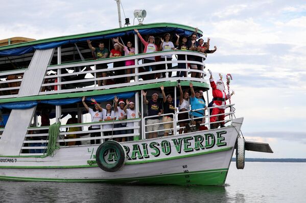
[[[0,99],[17,97],[26,69],[0,72]]]

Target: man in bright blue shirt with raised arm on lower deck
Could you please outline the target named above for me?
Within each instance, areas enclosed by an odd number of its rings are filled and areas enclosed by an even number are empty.
[[[191,104],[191,110],[195,109],[201,109],[204,108],[204,110],[207,109],[207,106],[205,104],[205,101],[201,98],[200,91],[194,91],[193,89],[193,83],[189,83],[190,90],[191,90],[191,97],[190,97],[190,104]],[[205,123],[204,115],[205,111],[197,110],[197,111],[191,111],[191,114],[193,116],[193,125],[196,125],[197,130],[200,128],[200,124]]]

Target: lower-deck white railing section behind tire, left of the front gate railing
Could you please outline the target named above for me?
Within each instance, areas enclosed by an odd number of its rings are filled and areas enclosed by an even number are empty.
[[[82,123],[82,124],[69,124],[69,125],[61,125],[60,132],[57,139],[57,142],[61,147],[67,146],[78,146],[84,144],[90,144],[90,140],[101,140],[104,142],[106,139],[110,138],[121,138],[121,137],[139,137],[139,122],[141,119],[127,119],[123,121],[104,121],[104,122],[93,122],[93,123]],[[104,125],[115,125],[120,123],[133,123],[134,126],[131,127],[121,127],[121,128],[107,128],[104,129]],[[84,128],[89,128],[90,126],[100,125],[100,129],[97,130],[87,130]],[[66,132],[68,128],[79,128],[77,131]],[[28,134],[26,134],[26,139],[23,141],[23,147],[21,148],[20,155],[43,155],[43,152],[46,149],[46,146],[49,142],[48,132],[40,133],[42,130],[49,130],[49,126],[45,127],[29,127]],[[115,134],[116,131],[119,130],[133,130],[133,133],[126,134]],[[112,131],[112,135],[104,136],[103,132]],[[90,137],[90,133],[100,133],[100,136]],[[69,135],[76,134],[77,138],[68,138]],[[79,144],[77,143],[79,142]],[[89,142],[89,143],[88,143]],[[101,142],[101,143],[102,143]],[[73,144],[70,144],[73,143]],[[36,150],[36,152],[35,152]]]

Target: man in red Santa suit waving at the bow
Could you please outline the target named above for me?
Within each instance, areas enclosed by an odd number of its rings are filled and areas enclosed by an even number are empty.
[[[221,79],[217,80],[215,83],[213,74],[211,73],[210,70],[208,70],[208,72],[210,74],[209,82],[210,82],[210,86],[213,91],[213,97],[214,97],[213,106],[220,106],[220,107],[213,108],[211,115],[223,114],[223,115],[216,115],[215,117],[211,116],[210,123],[213,123],[216,121],[224,121],[224,117],[225,117],[224,112],[225,112],[226,107],[223,105],[226,104],[225,101],[230,99],[230,97],[234,94],[234,92],[232,91],[231,94],[226,94],[225,86],[222,81],[222,75],[220,75]],[[224,122],[211,124],[210,128],[211,129],[218,128],[219,125],[221,125],[221,127],[224,127]]]

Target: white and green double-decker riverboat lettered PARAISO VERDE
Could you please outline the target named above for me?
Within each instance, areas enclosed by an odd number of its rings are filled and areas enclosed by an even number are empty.
[[[45,182],[103,182],[129,184],[174,184],[174,185],[222,185],[226,181],[233,153],[236,149],[237,167],[244,167],[245,150],[269,152],[267,143],[245,141],[241,132],[243,118],[236,118],[234,104],[226,107],[225,125],[211,129],[209,111],[206,130],[189,131],[179,134],[177,115],[172,113],[172,135],[163,136],[162,121],[154,131],[158,137],[148,138],[146,121],[147,105],[144,104],[142,90],[150,98],[153,93],[165,89],[178,99],[178,84],[183,89],[202,90],[209,101],[210,85],[205,71],[192,70],[188,63],[205,67],[206,55],[190,50],[158,51],[142,53],[143,46],[134,29],[142,36],[190,36],[195,27],[177,23],[149,23],[114,28],[112,30],[69,35],[42,40],[7,44],[0,47],[0,180],[4,181],[45,181]],[[197,32],[197,37],[202,36]],[[88,48],[87,40],[95,47],[104,41],[105,47],[112,48],[112,38],[123,42],[134,42],[135,54],[96,60]],[[200,57],[202,62],[173,59],[154,62],[152,65],[172,63],[173,69],[146,72],[142,60],[164,54],[191,55]],[[135,65],[112,67],[113,63],[134,60]],[[178,62],[186,64],[180,69]],[[108,64],[107,69],[97,69]],[[116,71],[133,69],[131,73]],[[169,77],[169,72],[183,71],[187,77]],[[201,78],[191,77],[192,72],[202,74]],[[218,70],[215,70],[217,72]],[[148,73],[165,73],[164,78],[148,79]],[[127,82],[126,78],[134,78]],[[114,82],[121,78],[121,83]],[[99,80],[110,82],[99,85]],[[204,95],[205,95],[204,94]],[[95,99],[101,106],[114,97],[132,100],[135,103],[135,119],[91,122],[82,105],[82,97]],[[177,103],[175,102],[175,108]],[[214,108],[214,107],[210,107]],[[43,110],[49,109],[50,125],[42,124]],[[199,109],[197,109],[199,110]],[[191,110],[193,111],[193,110]],[[76,112],[78,123],[66,124],[65,116]],[[141,114],[140,114],[141,113]],[[161,119],[161,114],[157,119]],[[166,114],[168,115],[168,114]],[[188,122],[191,118],[188,119]],[[112,128],[111,135],[103,126],[132,123],[132,127]],[[217,122],[218,123],[218,122]],[[92,125],[101,126],[91,129]],[[68,128],[77,128],[74,132]],[[195,129],[195,126],[191,126]],[[116,130],[133,129],[129,134],[114,134]],[[99,136],[90,137],[92,132]],[[151,131],[152,132],[152,131]],[[75,138],[69,135],[76,135]],[[116,138],[130,137],[129,141],[114,141]],[[90,143],[100,140],[100,143]]]

